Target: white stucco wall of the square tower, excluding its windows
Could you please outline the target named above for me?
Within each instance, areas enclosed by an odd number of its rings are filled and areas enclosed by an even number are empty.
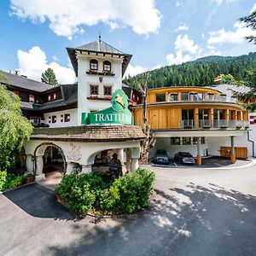
[[[98,72],[103,70],[103,61],[111,62],[111,70],[114,76],[103,76],[102,83],[99,81],[99,75],[87,74],[90,69],[90,60],[98,61]],[[99,57],[90,55],[78,55],[78,124],[81,124],[81,116],[83,112],[90,110],[101,110],[111,106],[110,101],[104,100],[88,100],[90,96],[90,84],[99,86],[98,97],[103,97],[103,86],[111,85],[112,92],[122,88],[122,58],[114,58],[110,56]]]

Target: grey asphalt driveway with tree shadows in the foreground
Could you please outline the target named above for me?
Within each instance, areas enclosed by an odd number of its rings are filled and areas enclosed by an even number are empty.
[[[0,255],[255,255],[256,168],[153,168],[152,207],[76,218],[32,184],[0,195]]]

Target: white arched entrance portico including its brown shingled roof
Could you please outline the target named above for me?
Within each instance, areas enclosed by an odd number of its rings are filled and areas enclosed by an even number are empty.
[[[82,167],[82,172],[91,172],[96,154],[108,149],[125,150],[126,168],[135,171],[143,138],[141,128],[133,125],[85,125],[57,131],[54,128],[41,128],[25,145],[27,172],[34,172],[37,179],[44,178],[43,156],[49,145],[60,149],[67,173],[73,172],[75,164]]]

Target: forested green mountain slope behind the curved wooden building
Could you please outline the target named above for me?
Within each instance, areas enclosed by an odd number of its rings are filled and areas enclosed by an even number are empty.
[[[207,56],[150,71],[148,88],[206,86],[214,84],[213,79],[219,74],[230,74],[237,81],[247,81],[249,69],[256,69],[256,53],[236,57]],[[137,84],[143,83],[143,74],[125,78],[124,83],[137,87]]]

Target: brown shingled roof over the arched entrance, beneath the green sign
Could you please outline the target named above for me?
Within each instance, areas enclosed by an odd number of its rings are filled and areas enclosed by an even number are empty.
[[[135,125],[83,125],[34,129],[31,139],[64,142],[125,142],[140,141],[145,135]]]

